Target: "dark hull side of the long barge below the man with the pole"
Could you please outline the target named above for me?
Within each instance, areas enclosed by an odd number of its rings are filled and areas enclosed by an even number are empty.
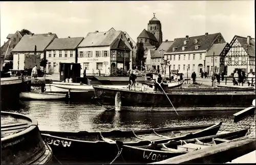
[[[102,105],[115,105],[116,93],[121,94],[121,105],[127,107],[248,107],[251,100],[255,99],[253,92],[232,92],[232,93],[188,93],[172,92],[167,93],[172,102],[170,104],[164,93],[141,92],[125,89],[105,88],[93,86],[95,97]],[[173,109],[172,109],[173,110]]]

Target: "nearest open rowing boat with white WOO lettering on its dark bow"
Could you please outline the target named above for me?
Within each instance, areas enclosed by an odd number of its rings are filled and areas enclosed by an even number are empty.
[[[199,138],[179,141],[171,140],[164,144],[150,144],[148,146],[127,146],[122,145],[121,142],[117,142],[119,149],[122,150],[118,160],[122,160],[125,163],[151,163],[161,161],[223,142],[229,142],[232,139],[246,136],[248,132],[249,128]]]

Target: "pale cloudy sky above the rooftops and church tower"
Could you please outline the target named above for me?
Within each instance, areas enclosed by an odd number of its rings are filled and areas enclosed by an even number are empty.
[[[136,41],[153,13],[162,23],[163,40],[206,32],[222,33],[226,42],[234,35],[255,36],[254,1],[0,2],[1,45],[22,29],[66,38],[113,27]]]

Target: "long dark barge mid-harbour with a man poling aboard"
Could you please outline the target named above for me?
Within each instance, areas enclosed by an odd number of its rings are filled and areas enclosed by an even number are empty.
[[[117,92],[120,93],[122,109],[138,111],[176,110],[226,110],[244,109],[255,98],[254,91],[186,92],[152,90],[129,90],[94,85],[95,99],[108,108],[113,108]],[[136,108],[134,108],[136,107]]]

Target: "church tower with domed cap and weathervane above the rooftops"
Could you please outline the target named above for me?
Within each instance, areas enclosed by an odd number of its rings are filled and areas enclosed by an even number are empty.
[[[155,14],[156,13],[154,13],[154,17],[147,23],[147,31],[154,34],[160,45],[163,41],[162,25],[160,20],[155,17]]]

